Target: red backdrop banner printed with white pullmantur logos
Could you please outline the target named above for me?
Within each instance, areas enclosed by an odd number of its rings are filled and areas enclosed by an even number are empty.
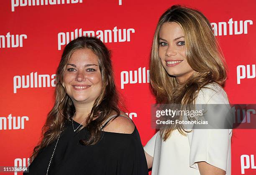
[[[254,0],[1,0],[0,166],[28,165],[54,104],[63,48],[82,35],[97,36],[111,50],[125,112],[145,145],[155,133],[150,121],[155,103],[149,89],[151,43],[159,17],[175,4],[196,8],[210,20],[228,65],[230,103],[256,104]],[[256,117],[255,110],[236,112],[247,114],[241,122]],[[254,129],[233,130],[232,175],[256,174],[255,138]]]

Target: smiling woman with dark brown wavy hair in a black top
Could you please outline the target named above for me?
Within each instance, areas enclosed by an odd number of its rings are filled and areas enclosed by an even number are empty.
[[[148,174],[138,130],[118,108],[110,53],[100,39],[79,37],[67,44],[55,96],[28,173]]]

